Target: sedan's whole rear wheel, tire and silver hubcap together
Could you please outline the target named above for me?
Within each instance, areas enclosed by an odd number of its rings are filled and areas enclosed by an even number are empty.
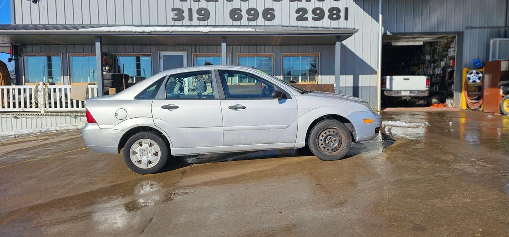
[[[164,166],[168,157],[168,146],[153,131],[134,134],[124,146],[124,161],[138,174],[156,173]]]

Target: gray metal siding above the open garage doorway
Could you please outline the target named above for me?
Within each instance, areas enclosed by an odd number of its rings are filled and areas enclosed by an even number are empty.
[[[468,26],[503,26],[506,4],[506,0],[383,0],[383,26],[385,33],[447,32],[463,31]]]

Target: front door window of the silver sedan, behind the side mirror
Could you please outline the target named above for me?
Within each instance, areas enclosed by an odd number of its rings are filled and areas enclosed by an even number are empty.
[[[274,84],[249,73],[219,71],[219,77],[226,98],[272,98],[275,89]]]

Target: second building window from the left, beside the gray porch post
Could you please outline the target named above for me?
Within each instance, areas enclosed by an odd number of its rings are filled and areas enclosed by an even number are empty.
[[[69,54],[71,83],[97,83],[95,54]]]

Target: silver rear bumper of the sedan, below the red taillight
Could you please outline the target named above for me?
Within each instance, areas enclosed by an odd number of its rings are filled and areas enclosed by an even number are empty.
[[[85,145],[95,152],[119,153],[119,142],[125,131],[101,129],[97,124],[88,123],[81,129],[81,138]]]

